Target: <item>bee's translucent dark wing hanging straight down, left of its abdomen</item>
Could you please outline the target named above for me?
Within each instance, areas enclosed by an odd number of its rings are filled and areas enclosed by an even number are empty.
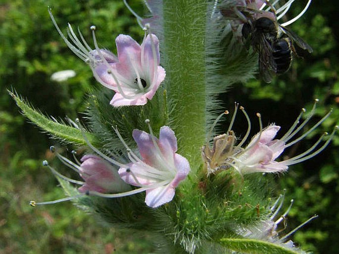
[[[272,46],[264,36],[260,37],[260,41],[257,45],[261,77],[266,83],[271,83],[273,74],[277,72],[277,64],[273,58]]]

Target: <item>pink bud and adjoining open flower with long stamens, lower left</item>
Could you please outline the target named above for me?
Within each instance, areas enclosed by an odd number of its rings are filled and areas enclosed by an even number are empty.
[[[149,120],[146,120],[146,122],[149,125]],[[87,139],[88,145],[100,157],[85,155],[82,157],[81,163],[75,164],[56,153],[57,157],[70,169],[77,171],[85,182],[60,174],[50,167],[47,161],[44,161],[44,166],[47,166],[58,177],[68,182],[82,185],[78,190],[83,195],[120,198],[145,191],[146,205],[152,208],[159,207],[173,199],[175,188],[190,172],[190,164],[186,158],[176,153],[178,149],[177,139],[171,128],[167,126],[161,127],[159,139],[154,137],[150,126],[149,129],[150,134],[139,129],[133,131],[133,138],[138,145],[138,152],[141,154],[142,159],[127,146],[116,129],[117,135],[128,151],[130,163],[127,164],[120,163],[103,154]],[[51,147],[50,150],[55,152],[54,147]],[[77,161],[76,158],[75,160]],[[131,190],[131,185],[140,188]],[[36,203],[32,201],[31,205],[55,204],[81,196],[77,195],[51,202]]]

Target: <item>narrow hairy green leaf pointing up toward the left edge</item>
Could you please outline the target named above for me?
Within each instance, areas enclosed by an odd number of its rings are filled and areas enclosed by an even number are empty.
[[[32,106],[29,105],[29,103],[25,102],[17,94],[14,94],[11,91],[8,92],[13,97],[19,108],[22,110],[23,114],[34,124],[50,133],[52,136],[59,138],[62,141],[68,141],[81,145],[87,144],[80,129],[70,127],[65,124],[60,124],[57,123],[55,120],[49,119],[42,113],[35,110]],[[87,132],[86,136],[91,143],[95,143],[96,138],[93,134]]]

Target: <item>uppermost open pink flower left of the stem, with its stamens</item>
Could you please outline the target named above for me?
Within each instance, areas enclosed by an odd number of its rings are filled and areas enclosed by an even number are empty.
[[[72,27],[68,25],[70,41],[62,34],[49,10],[50,17],[68,47],[83,61],[88,63],[96,80],[103,86],[115,91],[110,102],[114,107],[145,105],[152,99],[159,85],[165,79],[165,70],[159,66],[159,41],[153,34],[145,34],[141,45],[128,35],[119,35],[116,40],[117,55],[99,48],[95,36],[96,27],[92,26],[95,49],[84,40],[81,41]]]

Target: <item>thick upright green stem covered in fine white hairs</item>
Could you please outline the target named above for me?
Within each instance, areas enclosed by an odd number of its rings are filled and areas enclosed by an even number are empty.
[[[192,170],[205,142],[205,0],[163,1],[163,56],[170,121]]]

